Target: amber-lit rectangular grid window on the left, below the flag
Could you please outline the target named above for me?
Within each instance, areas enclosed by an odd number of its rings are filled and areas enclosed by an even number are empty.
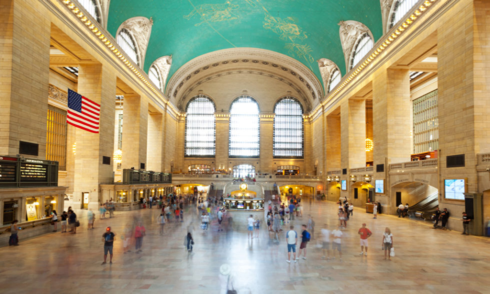
[[[66,111],[47,106],[46,159],[57,161],[61,171],[66,170]]]

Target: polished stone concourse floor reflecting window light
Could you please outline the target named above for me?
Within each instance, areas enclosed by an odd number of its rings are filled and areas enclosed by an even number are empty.
[[[207,231],[198,228],[197,213],[187,208],[183,223],[167,223],[159,236],[158,209],[118,212],[86,230],[84,212],[78,214],[77,234],[52,233],[19,240],[18,247],[0,248],[0,293],[220,293],[219,267],[229,264],[238,293],[490,293],[490,239],[463,236],[431,228],[429,223],[393,216],[372,219],[361,209],[343,231],[343,263],[321,259],[316,247],[319,231],[337,225],[336,205],[305,199],[303,217],[316,223],[315,240],[307,259],[287,264],[284,234],[276,245],[262,222],[260,237],[248,240],[246,231]],[[142,219],[147,230],[142,253],[123,254],[124,228]],[[245,221],[233,215],[234,222]],[[186,227],[194,220],[194,251],[183,247]],[[361,223],[373,232],[368,256],[360,257]],[[101,235],[106,226],[115,232],[113,264],[103,260]],[[396,256],[383,260],[382,232],[393,233]],[[284,228],[285,230],[285,228]]]

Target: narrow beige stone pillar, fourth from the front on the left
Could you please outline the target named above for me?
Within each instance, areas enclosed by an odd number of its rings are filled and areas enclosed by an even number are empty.
[[[148,115],[146,169],[149,171],[162,171],[163,128],[163,114],[152,113]]]

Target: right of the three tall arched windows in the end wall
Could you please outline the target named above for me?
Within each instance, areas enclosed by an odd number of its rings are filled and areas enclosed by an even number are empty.
[[[274,158],[303,158],[303,108],[292,97],[274,106],[272,152]]]

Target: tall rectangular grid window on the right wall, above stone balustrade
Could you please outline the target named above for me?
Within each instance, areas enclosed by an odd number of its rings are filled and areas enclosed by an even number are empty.
[[[439,148],[437,90],[413,100],[413,152]]]

